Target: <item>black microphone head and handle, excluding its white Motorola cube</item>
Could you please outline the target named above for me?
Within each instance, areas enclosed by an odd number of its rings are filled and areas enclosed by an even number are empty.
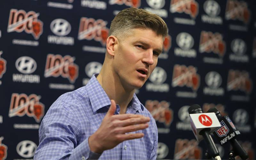
[[[194,104],[188,108],[188,113],[189,114],[200,114],[200,113],[203,113],[203,110],[198,104]],[[190,118],[191,118],[191,116],[190,116]],[[191,125],[193,125],[192,121],[191,121]],[[204,137],[204,142],[206,143],[206,146],[208,148],[208,154],[209,154],[208,157],[214,157],[215,159],[221,159],[220,152],[217,149],[215,143],[213,142],[212,136],[210,135],[210,130],[211,130],[210,128],[202,129],[199,132],[199,135],[202,135]]]

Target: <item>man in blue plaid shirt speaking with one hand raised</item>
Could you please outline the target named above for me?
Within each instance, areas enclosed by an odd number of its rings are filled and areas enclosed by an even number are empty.
[[[34,159],[156,159],[156,122],[134,92],[156,67],[167,33],[155,14],[120,11],[100,73],[52,104]]]

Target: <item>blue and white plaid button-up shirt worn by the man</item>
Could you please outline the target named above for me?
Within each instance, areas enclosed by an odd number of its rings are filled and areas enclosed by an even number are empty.
[[[135,94],[126,114],[150,117],[149,127],[136,131],[144,136],[119,143],[102,154],[90,150],[88,137],[99,129],[110,106],[110,99],[95,76],[86,86],[61,95],[49,108],[39,128],[34,159],[156,159],[156,122]],[[115,114],[119,111],[116,105]]]

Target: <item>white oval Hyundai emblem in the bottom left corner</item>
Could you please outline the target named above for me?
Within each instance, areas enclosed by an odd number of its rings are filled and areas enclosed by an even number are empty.
[[[25,140],[18,143],[16,150],[21,157],[30,158],[34,156],[36,148],[36,143]]]

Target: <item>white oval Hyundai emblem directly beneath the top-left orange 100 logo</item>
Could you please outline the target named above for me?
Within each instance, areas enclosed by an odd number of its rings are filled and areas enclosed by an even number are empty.
[[[36,70],[36,61],[31,57],[23,56],[16,60],[15,66],[20,73],[30,74]]]

